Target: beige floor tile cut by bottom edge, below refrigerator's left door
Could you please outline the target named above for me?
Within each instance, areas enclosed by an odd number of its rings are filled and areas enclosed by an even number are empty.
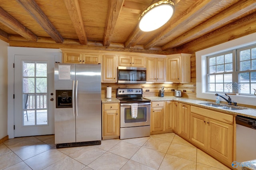
[[[67,156],[66,158],[48,166],[44,170],[81,170],[85,167],[86,166],[84,164],[81,164],[80,162]]]

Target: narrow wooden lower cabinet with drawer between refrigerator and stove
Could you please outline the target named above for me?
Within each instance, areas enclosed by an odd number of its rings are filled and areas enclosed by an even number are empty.
[[[102,104],[102,139],[120,136],[120,109],[118,103]]]

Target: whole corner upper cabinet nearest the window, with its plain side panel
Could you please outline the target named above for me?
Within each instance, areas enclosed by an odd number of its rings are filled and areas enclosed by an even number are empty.
[[[189,83],[191,79],[191,54],[167,55],[166,81],[176,83]]]

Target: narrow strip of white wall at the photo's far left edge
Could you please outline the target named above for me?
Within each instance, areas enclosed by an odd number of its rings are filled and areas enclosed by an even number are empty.
[[[0,40],[0,139],[7,136],[7,47]]]

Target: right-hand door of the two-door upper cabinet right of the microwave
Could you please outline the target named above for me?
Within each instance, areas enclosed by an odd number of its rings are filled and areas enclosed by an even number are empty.
[[[156,59],[156,82],[165,82],[165,65],[164,59]],[[147,72],[148,74],[148,72]],[[147,75],[148,76],[148,75]]]

